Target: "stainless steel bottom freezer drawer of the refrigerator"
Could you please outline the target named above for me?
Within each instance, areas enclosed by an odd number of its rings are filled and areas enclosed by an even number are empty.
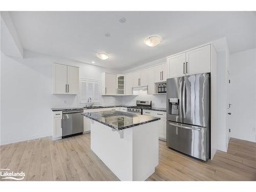
[[[166,121],[166,144],[184,154],[206,161],[207,128]]]

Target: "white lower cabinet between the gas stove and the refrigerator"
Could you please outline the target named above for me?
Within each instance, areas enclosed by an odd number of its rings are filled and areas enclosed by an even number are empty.
[[[154,111],[154,110],[142,110],[142,115],[150,115],[154,117],[160,117],[158,121],[158,136],[159,139],[166,141],[166,112]]]

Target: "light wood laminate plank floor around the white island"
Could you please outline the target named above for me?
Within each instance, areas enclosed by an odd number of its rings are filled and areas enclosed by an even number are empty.
[[[0,147],[1,168],[25,172],[24,180],[117,181],[90,150],[90,134],[52,141],[42,138]],[[148,181],[256,181],[256,143],[231,138],[228,152],[203,162],[166,147],[159,140],[159,165]],[[2,180],[3,181],[3,180]]]

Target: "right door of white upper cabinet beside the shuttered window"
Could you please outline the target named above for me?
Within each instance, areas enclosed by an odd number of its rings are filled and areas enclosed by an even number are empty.
[[[78,94],[79,68],[68,66],[67,74],[68,94]]]

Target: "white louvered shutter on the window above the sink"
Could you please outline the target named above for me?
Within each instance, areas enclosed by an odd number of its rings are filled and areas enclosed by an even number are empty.
[[[100,103],[100,82],[96,80],[80,79],[79,102],[88,103],[91,97],[93,103]]]

